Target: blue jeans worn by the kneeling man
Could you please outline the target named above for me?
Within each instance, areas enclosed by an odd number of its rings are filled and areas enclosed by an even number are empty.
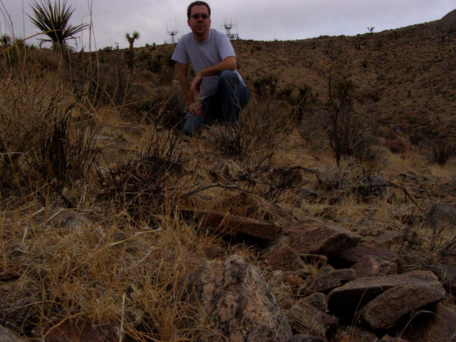
[[[204,115],[193,115],[187,112],[184,133],[194,135],[202,124],[225,122],[237,123],[239,111],[249,103],[249,90],[234,71],[224,70],[219,75],[217,93],[201,101]]]

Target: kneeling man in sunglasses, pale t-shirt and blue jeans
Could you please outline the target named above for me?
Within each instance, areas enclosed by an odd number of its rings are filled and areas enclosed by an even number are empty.
[[[192,2],[187,8],[187,24],[191,33],[177,43],[172,60],[177,62],[180,86],[189,110],[184,132],[193,135],[202,124],[237,123],[239,111],[249,102],[249,90],[237,72],[236,54],[229,38],[210,28],[211,9],[204,1]],[[196,76],[188,80],[188,61]],[[202,95],[201,103],[195,92]]]

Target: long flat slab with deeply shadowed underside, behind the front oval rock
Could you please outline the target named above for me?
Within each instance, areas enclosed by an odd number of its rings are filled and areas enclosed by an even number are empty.
[[[348,281],[328,294],[328,309],[331,313],[351,320],[358,309],[366,306],[375,297],[395,286],[440,286],[437,276],[431,271],[411,271],[390,276],[371,276]]]

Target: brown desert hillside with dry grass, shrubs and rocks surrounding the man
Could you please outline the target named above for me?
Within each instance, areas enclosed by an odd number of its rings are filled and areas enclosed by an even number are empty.
[[[174,46],[2,37],[0,341],[456,341],[456,10],[233,45],[187,137]]]

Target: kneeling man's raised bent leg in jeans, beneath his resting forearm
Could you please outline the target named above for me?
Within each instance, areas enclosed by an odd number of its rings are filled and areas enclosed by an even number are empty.
[[[223,120],[236,123],[239,111],[249,102],[249,90],[237,73],[224,70],[220,73],[217,97],[221,105]]]

